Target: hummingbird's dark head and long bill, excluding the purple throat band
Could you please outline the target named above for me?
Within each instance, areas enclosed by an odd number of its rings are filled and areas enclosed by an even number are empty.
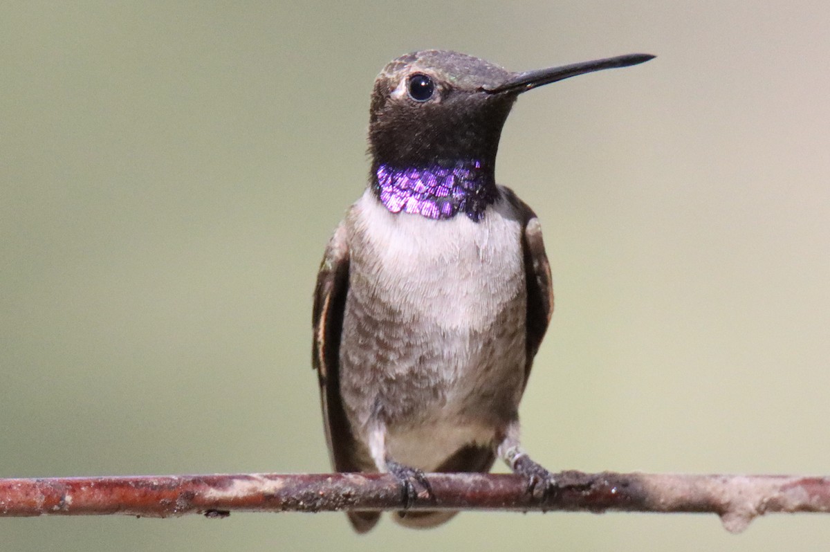
[[[369,153],[395,166],[495,162],[516,97],[551,82],[652,59],[631,54],[514,73],[455,51],[416,51],[391,61],[374,83]]]

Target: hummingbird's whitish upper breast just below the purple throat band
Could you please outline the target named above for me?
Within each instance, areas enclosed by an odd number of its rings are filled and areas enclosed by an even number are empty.
[[[370,190],[355,211],[375,289],[407,303],[419,320],[483,330],[493,313],[524,293],[521,224],[502,199],[481,222],[463,214],[441,221],[393,214]]]

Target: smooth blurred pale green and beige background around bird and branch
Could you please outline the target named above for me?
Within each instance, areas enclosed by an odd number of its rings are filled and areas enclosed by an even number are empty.
[[[827,2],[7,2],[0,476],[328,471],[311,291],[383,65],[644,66],[523,95],[497,177],[557,312],[522,405],[558,470],[830,471]],[[826,516],[0,520],[2,550],[816,550]],[[795,546],[793,546],[795,545]]]

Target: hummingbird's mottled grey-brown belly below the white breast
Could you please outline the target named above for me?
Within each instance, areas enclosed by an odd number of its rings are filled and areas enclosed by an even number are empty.
[[[366,435],[383,423],[389,454],[422,469],[471,442],[489,444],[515,419],[524,383],[524,301],[485,330],[406,320],[349,296],[340,387],[349,421]]]

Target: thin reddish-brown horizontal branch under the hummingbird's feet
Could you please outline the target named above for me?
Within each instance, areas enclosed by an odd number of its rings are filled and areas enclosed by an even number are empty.
[[[655,475],[563,471],[544,503],[519,476],[429,474],[432,498],[411,510],[709,512],[745,530],[772,512],[830,511],[830,478]],[[170,517],[231,511],[400,510],[398,481],[385,474],[242,474],[0,479],[0,516]]]

